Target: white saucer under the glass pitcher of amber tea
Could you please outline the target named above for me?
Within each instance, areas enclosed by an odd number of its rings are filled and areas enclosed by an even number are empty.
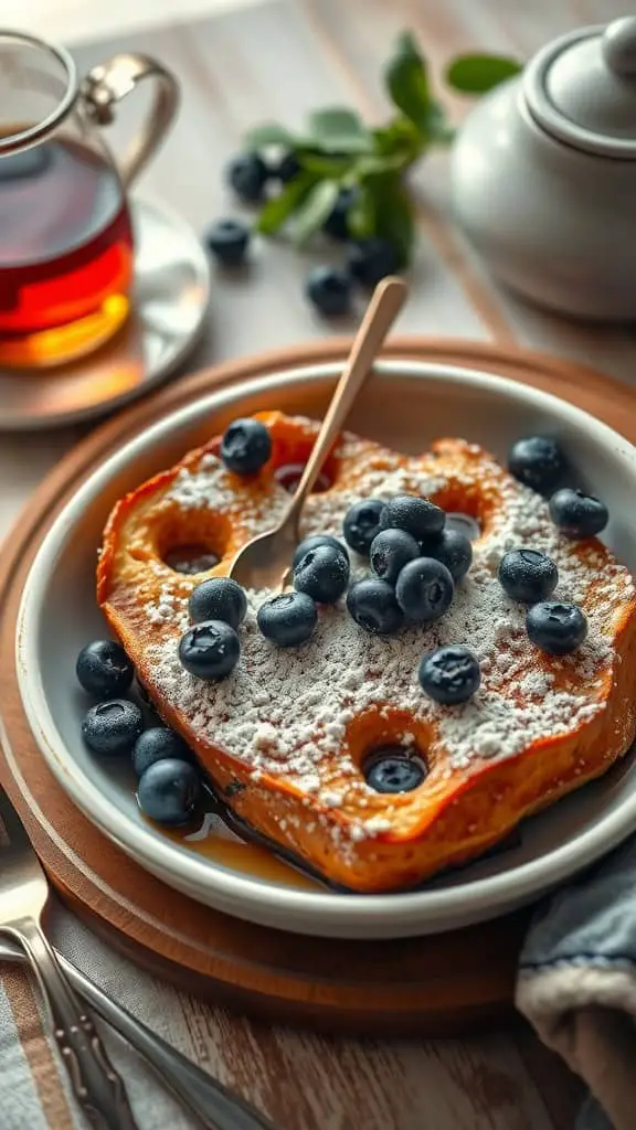
[[[59,427],[103,416],[158,384],[203,327],[209,267],[191,227],[163,203],[132,200],[135,310],[95,353],[55,368],[0,368],[0,431]]]

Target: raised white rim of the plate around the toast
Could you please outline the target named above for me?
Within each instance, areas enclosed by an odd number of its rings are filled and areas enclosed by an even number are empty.
[[[575,425],[595,433],[596,438],[611,447],[612,453],[625,462],[626,470],[636,479],[636,446],[588,412],[556,395],[530,385],[517,384],[489,372],[436,360],[385,359],[379,360],[375,370],[380,376],[386,377],[410,375],[426,380],[442,376],[450,383],[469,384],[478,389],[481,386],[505,393],[513,399],[525,400],[528,405],[543,410],[551,409],[557,418],[569,418]],[[631,832],[636,817],[636,794],[634,798],[626,798],[618,811],[600,818],[594,827],[575,835],[547,854],[526,861],[502,875],[491,875],[441,889],[380,895],[360,896],[329,892],[315,894],[295,890],[250,878],[215,864],[212,860],[201,859],[196,853],[175,849],[167,838],[163,842],[156,840],[147,835],[143,827],[122,816],[115,806],[103,797],[97,786],[79,771],[72,756],[67,751],[49,711],[41,672],[35,661],[38,612],[57,559],[75,524],[69,518],[72,514],[77,519],[88,498],[98,497],[100,486],[109,480],[117,467],[124,467],[136,453],[139,453],[139,450],[154,446],[162,434],[187,424],[190,417],[201,415],[204,411],[218,410],[224,405],[240,401],[246,395],[257,395],[260,391],[270,391],[272,388],[319,383],[326,379],[335,380],[340,371],[341,366],[336,360],[304,364],[212,390],[169,411],[104,460],[65,505],[48,530],[31,564],[17,618],[17,680],[35,741],[63,791],[92,824],[169,886],[174,886],[197,901],[217,906],[235,916],[282,929],[293,929],[296,932],[367,938],[432,933],[478,922],[484,918],[496,918],[523,903],[531,902],[538,894],[594,862],[600,855],[616,847]],[[35,676],[33,672],[36,672]],[[77,777],[80,779],[79,782]],[[128,829],[128,835],[118,835],[115,832],[118,825]],[[549,875],[543,873],[547,870]],[[213,894],[214,898],[206,897],[209,894]],[[381,929],[378,922],[385,914],[389,919],[388,930]],[[285,916],[287,920],[282,921]],[[375,933],[370,935],[369,928],[373,927]]]

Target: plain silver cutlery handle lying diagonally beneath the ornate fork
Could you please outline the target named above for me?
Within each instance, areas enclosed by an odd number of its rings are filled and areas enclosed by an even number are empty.
[[[144,1057],[162,1084],[205,1130],[275,1130],[268,1119],[151,1032],[75,965],[61,955],[58,955],[58,960],[76,992]]]

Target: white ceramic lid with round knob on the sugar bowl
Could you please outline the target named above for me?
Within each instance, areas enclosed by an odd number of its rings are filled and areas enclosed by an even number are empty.
[[[598,156],[636,159],[636,16],[555,40],[523,81],[532,116],[553,137]]]

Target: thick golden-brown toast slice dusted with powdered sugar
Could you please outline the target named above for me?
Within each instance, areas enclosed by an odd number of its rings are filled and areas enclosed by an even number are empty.
[[[140,681],[238,816],[334,883],[398,889],[483,853],[627,750],[636,727],[627,570],[596,539],[558,534],[543,499],[461,440],[405,457],[343,436],[326,469],[332,486],[309,498],[302,531],[341,533],[351,503],[370,495],[420,493],[475,515],[473,567],[438,624],[380,638],[341,602],[320,610],[302,647],[276,649],[256,627],[267,594],[251,593],[237,669],[220,684],[187,675],[177,654],[187,600],[210,574],[175,573],[164,557],[198,544],[230,558],[282,512],[289,495],[275,472],[302,464],[313,443],[312,421],[260,418],[273,455],[258,476],[226,471],[218,437],[190,452],[114,507],[97,574],[100,605]],[[518,546],[549,553],[557,598],[585,610],[590,635],[574,655],[536,651],[525,609],[500,588],[499,559]],[[480,659],[482,685],[464,706],[440,706],[418,684],[421,654],[446,643]],[[386,741],[424,754],[429,775],[412,792],[380,794],[366,783],[361,762]]]

